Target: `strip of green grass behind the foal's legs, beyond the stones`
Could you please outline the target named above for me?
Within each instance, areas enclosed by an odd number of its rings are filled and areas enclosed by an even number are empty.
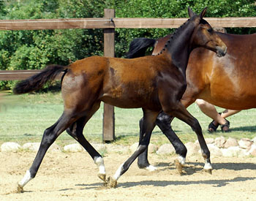
[[[89,142],[102,142],[102,113],[103,104],[91,120],[86,124],[84,134]],[[46,128],[54,124],[63,111],[60,93],[24,94],[20,96],[7,95],[1,98],[0,108],[0,144],[12,141],[20,143],[40,142],[42,133]],[[241,113],[228,118],[231,124],[231,133],[222,133],[220,129],[215,134],[206,131],[211,118],[200,112],[193,104],[188,108],[203,128],[205,137],[224,136],[252,138],[256,136],[255,115],[256,110],[244,110]],[[221,108],[218,108],[222,111]],[[114,143],[131,145],[138,142],[138,121],[142,117],[141,109],[121,109],[115,107],[115,134]],[[175,119],[172,123],[173,129],[184,143],[197,140],[192,129],[182,121]],[[74,143],[69,135],[64,132],[56,140],[59,145]],[[154,129],[151,142],[155,144],[168,143],[167,138],[158,127]]]

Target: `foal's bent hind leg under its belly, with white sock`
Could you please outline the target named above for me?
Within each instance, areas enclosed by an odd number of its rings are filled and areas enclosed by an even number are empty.
[[[94,149],[94,147],[86,140],[83,136],[83,128],[86,125],[87,121],[91,118],[92,115],[99,109],[100,102],[97,102],[92,107],[91,111],[87,113],[88,115],[83,118],[79,118],[78,121],[75,121],[69,128],[67,129],[67,133],[72,136],[75,140],[86,149],[86,151],[90,154],[91,158],[94,160],[94,163],[99,167],[98,177],[105,182],[106,180],[106,172],[105,165],[102,156]]]

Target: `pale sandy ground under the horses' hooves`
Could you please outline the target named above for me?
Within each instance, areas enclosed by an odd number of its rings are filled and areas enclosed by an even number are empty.
[[[183,175],[178,175],[174,156],[155,153],[150,161],[157,171],[140,170],[135,161],[119,178],[116,189],[106,189],[87,153],[48,152],[24,193],[14,193],[35,154],[0,152],[0,200],[256,200],[255,157],[214,157],[210,175],[202,171],[202,157],[190,156]],[[113,175],[128,157],[127,153],[108,153],[107,174]]]

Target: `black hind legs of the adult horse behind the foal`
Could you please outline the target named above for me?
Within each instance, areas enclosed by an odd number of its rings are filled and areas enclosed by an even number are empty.
[[[176,169],[179,173],[181,173],[182,166],[184,166],[186,161],[187,155],[187,148],[185,147],[184,143],[178,138],[178,136],[173,132],[172,127],[170,126],[170,122],[173,121],[173,117],[170,115],[165,114],[164,112],[159,113],[157,116],[156,124],[159,126],[159,129],[165,134],[167,139],[172,143],[173,147],[176,150],[176,153],[179,155],[178,159],[176,159]],[[143,118],[140,119],[140,136],[141,136],[141,129],[143,124]],[[157,168],[149,164],[148,162],[148,148],[146,151],[138,156],[138,167],[146,168],[147,170],[156,170]]]

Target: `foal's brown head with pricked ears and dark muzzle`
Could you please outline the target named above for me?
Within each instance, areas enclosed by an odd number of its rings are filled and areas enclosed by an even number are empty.
[[[214,29],[211,28],[211,25],[203,20],[204,15],[206,15],[207,7],[200,13],[196,15],[189,8],[189,17],[193,18],[196,23],[195,30],[192,34],[192,46],[193,47],[203,47],[217,53],[217,56],[225,56],[227,53],[227,46],[222,39],[219,38]]]

